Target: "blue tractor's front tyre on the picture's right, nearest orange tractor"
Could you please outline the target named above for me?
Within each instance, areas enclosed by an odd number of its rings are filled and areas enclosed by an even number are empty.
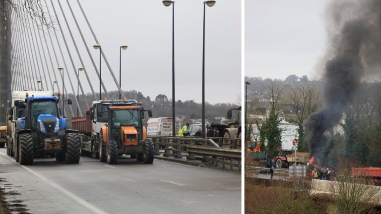
[[[80,145],[81,141],[79,139],[78,133],[67,133],[65,134],[66,142],[66,152],[65,152],[65,162],[66,163],[79,163],[80,156]]]

